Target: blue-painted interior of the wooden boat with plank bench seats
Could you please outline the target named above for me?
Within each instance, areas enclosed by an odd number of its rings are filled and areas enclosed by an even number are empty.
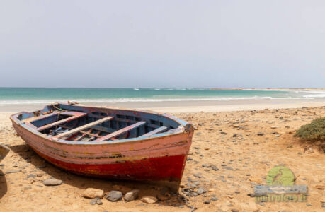
[[[35,131],[66,141],[140,138],[177,131],[178,126],[186,124],[170,115],[154,112],[59,103],[35,112],[22,112],[16,118]]]

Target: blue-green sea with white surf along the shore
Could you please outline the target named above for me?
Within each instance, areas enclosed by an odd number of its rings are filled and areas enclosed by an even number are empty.
[[[314,98],[325,98],[325,92],[172,88],[0,88],[0,105],[45,104],[67,100],[86,103]]]

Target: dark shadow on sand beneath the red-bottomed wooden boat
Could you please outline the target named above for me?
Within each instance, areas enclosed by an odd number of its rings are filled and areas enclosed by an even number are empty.
[[[55,167],[50,163],[47,163],[44,159],[40,158],[40,156],[33,151],[30,146],[27,144],[21,144],[16,146],[10,146],[11,151],[17,153],[21,156],[27,163],[30,163],[35,166],[36,172],[45,172],[43,175],[49,175],[49,177],[54,177],[55,179],[61,179],[63,183],[69,184],[73,187],[77,187],[79,189],[87,189],[87,188],[95,188],[102,189],[104,192],[110,192],[111,190],[117,190],[120,188],[122,190],[131,190],[131,189],[139,189],[139,198],[142,196],[156,196],[159,194],[159,189],[162,187],[153,186],[151,184],[145,184],[143,182],[132,182],[132,181],[122,181],[122,180],[112,180],[112,179],[98,179],[93,177],[84,177],[80,175],[74,175],[70,172],[66,172],[64,170]],[[0,176],[4,177],[4,176]],[[3,180],[0,178],[1,181]],[[36,178],[37,179],[37,178]],[[1,182],[2,185],[2,182]],[[3,191],[4,188],[0,189],[0,198],[6,192]],[[3,194],[4,193],[4,194]],[[181,196],[178,194],[172,194],[173,199],[166,201],[157,201],[156,204],[166,205],[166,206],[186,206],[184,201],[181,201]],[[174,199],[178,199],[178,201],[174,201]]]

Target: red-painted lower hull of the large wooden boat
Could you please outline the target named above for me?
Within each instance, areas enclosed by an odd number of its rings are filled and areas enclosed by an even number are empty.
[[[132,179],[181,182],[186,155],[173,155],[161,158],[125,161],[111,164],[74,164],[65,163],[35,150],[45,160],[69,172],[79,175],[107,179]]]

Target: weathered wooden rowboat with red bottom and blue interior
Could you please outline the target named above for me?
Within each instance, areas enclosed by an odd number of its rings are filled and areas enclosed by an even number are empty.
[[[178,190],[193,126],[169,114],[53,104],[11,116],[21,138],[64,170]]]

